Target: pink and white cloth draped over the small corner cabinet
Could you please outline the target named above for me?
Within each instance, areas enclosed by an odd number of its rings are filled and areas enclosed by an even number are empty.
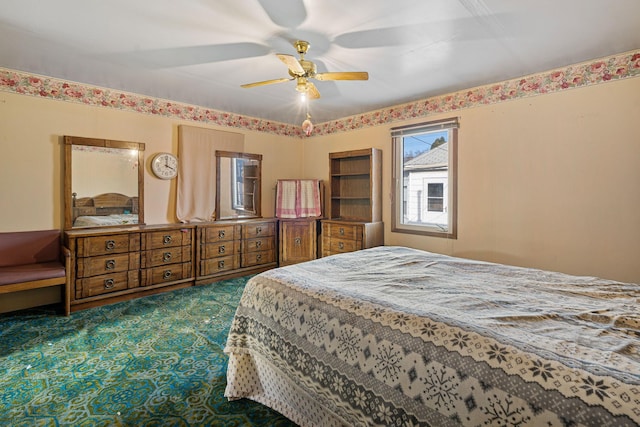
[[[321,215],[319,180],[278,180],[276,186],[277,218],[308,218]]]

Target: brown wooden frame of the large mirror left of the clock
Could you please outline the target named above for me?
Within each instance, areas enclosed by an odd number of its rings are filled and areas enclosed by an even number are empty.
[[[64,137],[64,229],[73,229],[73,189],[72,189],[72,151],[74,145],[89,145],[93,147],[116,148],[123,150],[138,150],[138,223],[106,225],[107,227],[127,227],[144,225],[144,143],[129,141],[113,141],[109,139],[84,138],[80,136]],[[91,227],[75,227],[91,228]],[[101,227],[99,227],[101,228]]]

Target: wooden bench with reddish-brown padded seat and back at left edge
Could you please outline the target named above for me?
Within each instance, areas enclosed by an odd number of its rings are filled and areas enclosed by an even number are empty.
[[[0,294],[61,286],[68,316],[70,260],[60,230],[0,233]]]

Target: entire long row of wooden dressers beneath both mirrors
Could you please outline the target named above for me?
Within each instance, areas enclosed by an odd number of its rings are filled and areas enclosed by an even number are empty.
[[[71,311],[278,266],[276,219],[73,229]]]

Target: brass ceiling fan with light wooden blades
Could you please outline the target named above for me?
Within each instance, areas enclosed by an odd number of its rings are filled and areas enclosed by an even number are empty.
[[[244,88],[256,87],[256,86],[264,86],[274,83],[283,83],[289,82],[292,80],[296,81],[296,90],[300,93],[306,94],[309,98],[317,99],[320,98],[320,92],[318,92],[318,88],[309,81],[309,79],[316,80],[369,80],[369,73],[366,71],[342,71],[342,72],[329,72],[329,73],[318,73],[316,72],[316,64],[311,61],[307,61],[304,59],[304,55],[309,50],[309,43],[304,40],[298,40],[293,43],[293,46],[296,48],[298,54],[300,55],[300,59],[297,59],[293,55],[287,55],[284,53],[278,53],[276,56],[285,63],[285,65],[289,68],[289,75],[291,77],[283,77],[280,79],[272,79],[265,80],[261,82],[255,83],[247,83],[241,85]]]

